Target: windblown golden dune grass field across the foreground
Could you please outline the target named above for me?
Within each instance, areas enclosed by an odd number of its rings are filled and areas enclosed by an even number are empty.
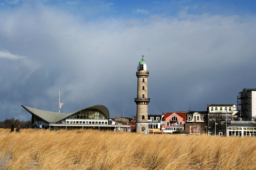
[[[0,129],[6,169],[256,169],[256,138]]]

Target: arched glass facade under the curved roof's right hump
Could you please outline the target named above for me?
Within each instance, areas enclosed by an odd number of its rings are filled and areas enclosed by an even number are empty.
[[[70,119],[106,119],[106,116],[97,109],[81,110],[71,116]]]

